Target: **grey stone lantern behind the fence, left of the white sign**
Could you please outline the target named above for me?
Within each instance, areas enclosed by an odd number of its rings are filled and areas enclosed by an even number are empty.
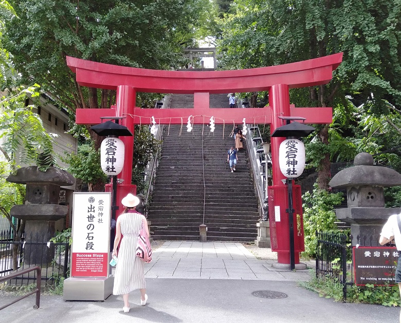
[[[25,240],[27,242],[47,242],[54,237],[54,224],[68,213],[68,206],[59,205],[60,186],[75,183],[71,174],[56,167],[46,172],[37,166],[19,168],[7,181],[26,184],[25,204],[11,207],[11,216],[26,220]],[[52,244],[27,244],[24,249],[26,264],[48,263],[54,256]]]

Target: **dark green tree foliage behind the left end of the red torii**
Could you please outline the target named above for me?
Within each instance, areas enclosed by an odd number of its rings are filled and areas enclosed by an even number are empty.
[[[65,56],[154,69],[179,66],[181,47],[206,0],[13,1],[21,20],[9,19],[7,45],[23,81],[34,78],[54,100],[76,108],[110,107],[114,93],[81,88]],[[206,11],[205,11],[206,12]]]

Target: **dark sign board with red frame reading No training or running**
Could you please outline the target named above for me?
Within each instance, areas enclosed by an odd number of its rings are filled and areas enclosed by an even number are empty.
[[[394,286],[399,252],[395,247],[358,246],[352,248],[355,284]]]

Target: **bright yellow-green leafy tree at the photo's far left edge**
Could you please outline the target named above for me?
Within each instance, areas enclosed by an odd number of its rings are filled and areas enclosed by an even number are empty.
[[[15,16],[14,9],[7,1],[0,1],[3,16]],[[17,17],[16,17],[17,18]],[[46,170],[54,160],[53,138],[43,128],[40,117],[32,112],[33,106],[26,106],[27,96],[39,95],[38,84],[29,87],[15,87],[20,75],[14,68],[13,57],[3,45],[5,22],[0,18],[0,214],[8,219],[14,241],[20,241],[25,230],[25,220],[13,222],[10,209],[25,199],[25,185],[6,181],[7,175],[19,167],[20,163],[34,163]],[[32,82],[29,82],[32,83]],[[28,83],[28,84],[29,84]],[[10,89],[6,88],[9,87]],[[13,270],[17,269],[18,245],[12,249]]]

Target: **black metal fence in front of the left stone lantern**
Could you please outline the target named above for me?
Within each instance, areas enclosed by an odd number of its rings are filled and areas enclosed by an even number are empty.
[[[34,266],[42,270],[42,282],[48,285],[58,284],[62,278],[69,275],[70,246],[68,239],[64,242],[49,242],[39,237],[24,237],[21,241],[13,241],[11,231],[0,232],[0,277],[6,276],[15,270],[21,271]],[[25,250],[51,250],[49,260],[40,263],[24,261]],[[54,253],[53,253],[54,250]],[[43,257],[38,257],[42,259]],[[35,261],[38,262],[38,261]],[[36,272],[29,272],[7,282],[9,285],[23,286],[33,283]]]

